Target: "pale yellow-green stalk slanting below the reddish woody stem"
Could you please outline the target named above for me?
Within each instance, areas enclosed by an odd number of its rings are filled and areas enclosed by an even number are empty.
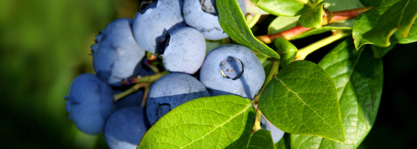
[[[318,50],[319,48],[324,47],[325,45],[328,45],[336,40],[339,40],[341,38],[344,38],[348,35],[351,35],[351,33],[347,33],[345,31],[339,31],[338,33],[331,35],[329,37],[326,37],[322,40],[319,40],[315,43],[311,43],[310,45],[307,45],[304,48],[301,48],[297,51],[297,55],[294,58],[294,61],[297,60],[304,60],[304,58],[306,58],[307,55],[309,55],[310,53]]]

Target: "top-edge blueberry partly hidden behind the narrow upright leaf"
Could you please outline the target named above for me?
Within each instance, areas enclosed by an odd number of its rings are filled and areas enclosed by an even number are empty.
[[[242,13],[246,13],[245,3],[238,0]],[[220,26],[216,0],[184,0],[184,20],[187,25],[199,30],[208,40],[229,37]]]

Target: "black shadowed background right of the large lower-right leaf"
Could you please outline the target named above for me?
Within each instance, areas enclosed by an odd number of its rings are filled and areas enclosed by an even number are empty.
[[[360,149],[412,149],[417,133],[417,43],[397,44],[382,57],[384,86],[374,127]],[[382,143],[383,142],[383,143]]]

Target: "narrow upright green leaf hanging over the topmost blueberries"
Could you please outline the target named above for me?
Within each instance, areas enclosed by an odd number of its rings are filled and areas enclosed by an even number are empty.
[[[231,39],[250,48],[258,58],[279,59],[279,55],[274,50],[257,40],[252,34],[236,0],[216,0],[216,7],[219,12],[220,26]]]

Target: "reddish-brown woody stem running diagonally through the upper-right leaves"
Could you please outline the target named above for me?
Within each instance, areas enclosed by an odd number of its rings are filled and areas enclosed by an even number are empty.
[[[325,10],[325,14],[323,16],[322,25],[327,25],[330,23],[334,23],[336,21],[340,20],[347,20],[356,18],[360,13],[365,12],[366,10],[371,9],[372,7],[364,7],[364,8],[356,8],[356,9],[349,9],[349,10],[343,10],[343,11],[336,11],[336,12],[327,12]],[[305,33],[313,28],[304,28],[301,25],[298,25],[294,28],[291,28],[289,30],[284,30],[282,32],[270,34],[270,35],[261,35],[256,36],[256,39],[263,43],[271,43],[276,38],[285,38],[286,40],[291,40],[292,38],[301,35],[302,33]]]

